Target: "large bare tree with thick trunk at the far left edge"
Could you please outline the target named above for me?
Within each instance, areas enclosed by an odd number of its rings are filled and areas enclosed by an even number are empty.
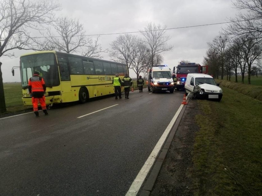
[[[1,0],[0,1],[0,58],[13,57],[14,49],[35,49],[31,30],[42,30],[52,22],[59,9],[55,0]],[[0,62],[0,113],[6,112],[3,78]]]

